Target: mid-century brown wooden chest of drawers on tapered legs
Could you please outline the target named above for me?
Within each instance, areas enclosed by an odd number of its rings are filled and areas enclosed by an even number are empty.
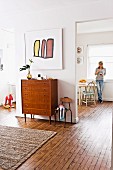
[[[21,80],[22,113],[51,116],[58,106],[57,80]]]

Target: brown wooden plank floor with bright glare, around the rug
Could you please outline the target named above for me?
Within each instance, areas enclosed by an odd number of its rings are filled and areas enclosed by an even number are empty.
[[[109,170],[111,165],[112,102],[79,108],[78,124],[15,117],[15,109],[0,108],[0,125],[52,130],[57,135],[18,170]]]

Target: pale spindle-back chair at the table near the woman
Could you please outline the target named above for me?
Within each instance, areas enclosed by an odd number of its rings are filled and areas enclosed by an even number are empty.
[[[88,83],[85,91],[82,92],[81,104],[82,103],[85,103],[86,106],[88,103],[94,103],[96,105],[96,85],[94,81]]]

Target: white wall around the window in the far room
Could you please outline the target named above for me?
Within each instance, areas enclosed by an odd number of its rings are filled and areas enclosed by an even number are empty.
[[[85,33],[77,35],[77,46],[83,46],[84,62],[83,64],[77,65],[77,81],[84,78],[87,79],[87,45],[91,44],[109,44],[113,43],[113,32],[102,32],[102,33]],[[111,89],[113,87],[112,81],[105,81],[105,87],[103,91],[103,100],[113,101],[113,93]]]

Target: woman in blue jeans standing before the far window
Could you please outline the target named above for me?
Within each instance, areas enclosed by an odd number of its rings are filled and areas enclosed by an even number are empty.
[[[106,69],[103,67],[103,62],[100,61],[98,68],[96,68],[96,84],[97,84],[97,93],[98,93],[98,101],[102,103],[102,91],[104,88],[104,76],[106,75]]]

